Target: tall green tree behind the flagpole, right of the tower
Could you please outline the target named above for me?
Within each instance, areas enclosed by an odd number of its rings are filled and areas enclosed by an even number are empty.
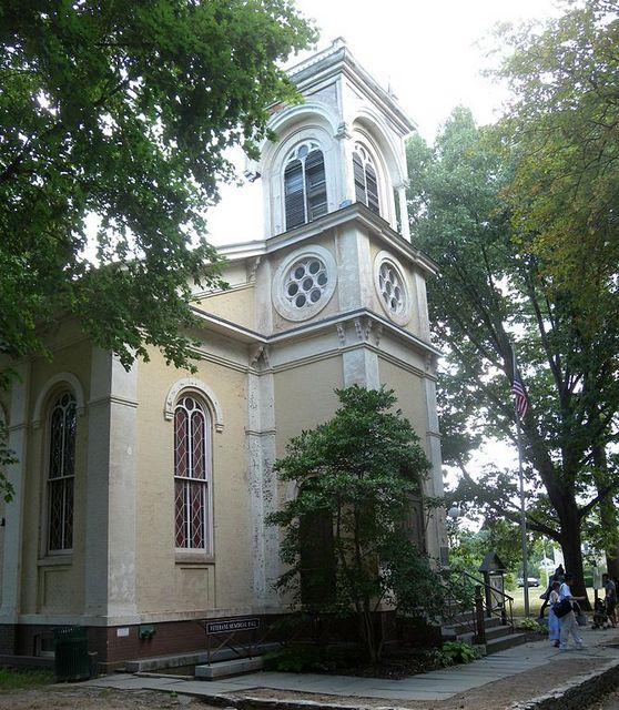
[[[584,334],[579,311],[555,287],[547,261],[515,239],[505,191],[517,152],[503,155],[468,111],[454,112],[433,149],[412,141],[408,159],[413,234],[440,267],[429,305],[448,353],[439,398],[446,460],[465,474],[463,495],[490,517],[518,520],[509,506],[514,471],[495,464],[481,480],[466,475],[480,430],[514,439],[516,342],[531,402],[522,422],[529,526],[561,544],[581,579],[581,521],[609,495],[608,486],[596,489],[596,450],[616,438],[613,314],[607,327]]]

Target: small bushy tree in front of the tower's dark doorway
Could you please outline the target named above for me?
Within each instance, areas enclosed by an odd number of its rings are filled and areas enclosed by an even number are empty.
[[[437,598],[438,579],[412,541],[407,507],[430,464],[410,423],[384,387],[338,389],[333,418],[303,432],[275,463],[298,494],[270,516],[284,529],[287,570],[277,588],[313,615],[355,616],[375,661],[382,605],[416,612]]]

